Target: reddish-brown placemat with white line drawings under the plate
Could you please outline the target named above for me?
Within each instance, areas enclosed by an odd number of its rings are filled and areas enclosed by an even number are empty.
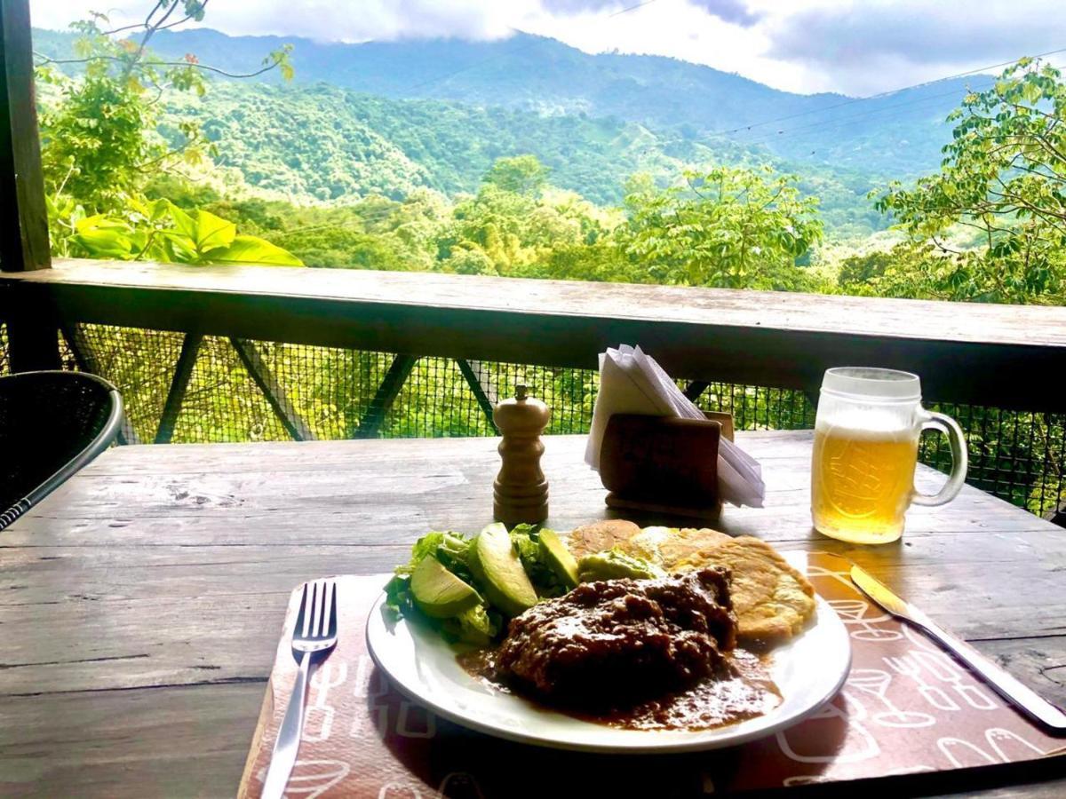
[[[342,634],[312,678],[287,796],[707,796],[1017,763],[1064,751],[1066,741],[1044,734],[924,635],[872,607],[852,585],[845,559],[814,553],[806,561],[808,577],[852,637],[852,671],[837,698],[802,723],[752,744],[625,757],[499,740],[405,700],[374,666],[364,639],[367,613],[387,575],[341,576]],[[294,591],[242,798],[260,794],[295,679],[289,640],[298,602]]]

